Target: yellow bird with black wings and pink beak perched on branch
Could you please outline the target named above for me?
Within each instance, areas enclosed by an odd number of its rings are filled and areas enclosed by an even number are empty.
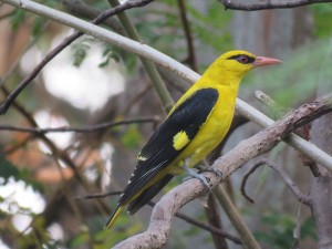
[[[135,214],[184,170],[207,185],[203,175],[189,168],[204,159],[227,134],[245,74],[256,66],[277,63],[281,61],[247,51],[230,51],[219,56],[178,100],[143,147],[105,228],[114,225],[125,206],[131,215]]]

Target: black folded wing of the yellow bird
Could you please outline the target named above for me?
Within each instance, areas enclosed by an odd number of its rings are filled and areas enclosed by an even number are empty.
[[[177,106],[143,147],[138,155],[137,166],[128,180],[128,185],[123,190],[118,205],[125,205],[162,169],[176,159],[188,144],[176,149],[174,137],[178,133],[185,132],[188,139],[191,141],[199,127],[206,122],[218,97],[217,90],[201,89],[194,92],[191,96]]]

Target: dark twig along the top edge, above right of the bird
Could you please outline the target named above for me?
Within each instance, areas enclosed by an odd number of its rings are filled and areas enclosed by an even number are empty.
[[[289,0],[289,1],[270,1],[266,0],[263,2],[257,1],[242,1],[236,2],[231,0],[219,0],[225,7],[225,9],[231,10],[243,10],[243,11],[253,11],[253,10],[270,10],[270,9],[290,9],[302,6],[309,6],[314,3],[331,2],[331,0]]]

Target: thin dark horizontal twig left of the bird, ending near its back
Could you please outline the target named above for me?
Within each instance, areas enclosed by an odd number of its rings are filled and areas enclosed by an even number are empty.
[[[14,125],[0,125],[0,131],[13,131],[13,132],[22,132],[22,133],[32,133],[32,134],[45,134],[45,133],[93,133],[101,129],[111,128],[118,125],[129,125],[129,124],[139,124],[147,122],[158,122],[158,117],[147,117],[147,118],[137,118],[131,121],[120,121],[120,122],[105,122],[96,125],[90,125],[85,127],[70,127],[62,126],[56,128],[39,128],[39,127],[22,127]]]

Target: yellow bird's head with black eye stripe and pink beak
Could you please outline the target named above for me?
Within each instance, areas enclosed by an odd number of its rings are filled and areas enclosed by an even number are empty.
[[[224,72],[227,71],[242,77],[248,71],[257,66],[278,63],[282,63],[282,61],[273,58],[257,56],[242,50],[235,50],[224,53],[214,64]]]

